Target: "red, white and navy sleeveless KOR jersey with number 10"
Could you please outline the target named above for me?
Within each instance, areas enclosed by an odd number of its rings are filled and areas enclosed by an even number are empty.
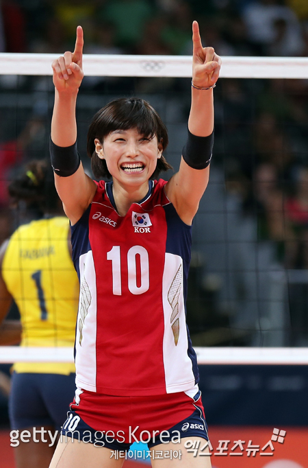
[[[162,395],[198,382],[185,323],[191,226],[164,193],[164,180],[118,215],[112,183],[72,226],[80,299],[76,384],[107,395]]]

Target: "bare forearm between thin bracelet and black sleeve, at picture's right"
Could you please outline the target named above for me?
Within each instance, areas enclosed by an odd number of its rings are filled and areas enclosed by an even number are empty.
[[[197,137],[207,137],[214,129],[213,89],[201,91],[192,87],[192,105],[188,129]]]

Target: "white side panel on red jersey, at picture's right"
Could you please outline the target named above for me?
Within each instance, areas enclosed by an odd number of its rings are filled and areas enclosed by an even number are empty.
[[[188,356],[188,334],[183,298],[183,261],[179,255],[165,254],[162,299],[165,326],[163,355],[166,392],[182,392],[192,388],[195,380],[192,361]],[[172,325],[175,325],[173,330]],[[175,344],[177,330],[179,336]]]

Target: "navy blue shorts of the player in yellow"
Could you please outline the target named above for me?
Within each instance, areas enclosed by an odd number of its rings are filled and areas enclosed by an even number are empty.
[[[9,398],[12,429],[51,425],[61,430],[75,395],[75,373],[13,373]]]

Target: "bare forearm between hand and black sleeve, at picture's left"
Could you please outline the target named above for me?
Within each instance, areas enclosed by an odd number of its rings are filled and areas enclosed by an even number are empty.
[[[77,93],[59,93],[55,89],[55,104],[51,119],[51,140],[58,146],[73,145],[77,139]]]

